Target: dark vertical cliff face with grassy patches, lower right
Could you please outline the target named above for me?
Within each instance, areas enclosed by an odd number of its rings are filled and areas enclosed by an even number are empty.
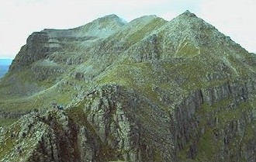
[[[255,87],[254,81],[248,82],[195,91],[177,106],[175,123],[180,160],[256,159],[255,147],[251,146],[255,143],[255,129],[251,127],[255,122],[251,103]]]

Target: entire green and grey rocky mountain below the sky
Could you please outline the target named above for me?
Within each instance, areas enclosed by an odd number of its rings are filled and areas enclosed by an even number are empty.
[[[189,11],[44,29],[0,81],[0,161],[255,161],[255,77]]]

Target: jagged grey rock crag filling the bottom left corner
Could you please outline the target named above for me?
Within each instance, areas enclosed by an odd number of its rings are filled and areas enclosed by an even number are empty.
[[[63,112],[40,115],[35,110],[2,132],[3,161],[80,161],[74,143],[76,128]],[[14,147],[8,150],[6,145]]]

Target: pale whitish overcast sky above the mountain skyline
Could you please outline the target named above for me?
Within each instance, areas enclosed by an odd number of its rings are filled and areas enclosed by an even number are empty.
[[[110,14],[127,22],[145,15],[170,21],[185,10],[256,53],[255,0],[0,0],[0,58],[13,59],[43,29],[71,29]]]

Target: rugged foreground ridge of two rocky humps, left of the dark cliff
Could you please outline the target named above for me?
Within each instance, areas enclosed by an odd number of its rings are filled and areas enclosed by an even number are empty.
[[[67,112],[35,110],[12,128],[2,130],[2,148],[8,144],[5,141],[11,140],[17,151],[5,150],[1,158],[4,161],[170,160],[170,132],[168,120],[164,119],[167,116],[147,102],[146,98],[113,85],[93,91]],[[145,105],[151,109],[142,109]],[[152,114],[161,119],[150,121]],[[162,127],[155,129],[159,124]],[[158,131],[163,134],[158,136]]]

